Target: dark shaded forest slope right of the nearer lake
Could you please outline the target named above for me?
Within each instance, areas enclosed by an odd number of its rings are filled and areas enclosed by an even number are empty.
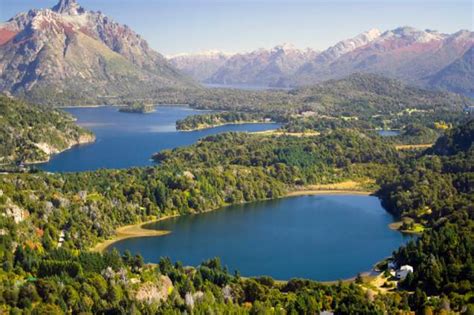
[[[458,305],[474,292],[474,120],[448,131],[422,156],[400,162],[398,175],[381,179],[385,207],[428,227],[395,252],[414,266],[402,286],[415,291],[417,310],[427,295]]]

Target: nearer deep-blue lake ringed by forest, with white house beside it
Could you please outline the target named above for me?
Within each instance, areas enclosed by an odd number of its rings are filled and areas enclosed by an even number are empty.
[[[392,221],[376,197],[300,196],[156,222],[147,227],[172,233],[122,240],[109,249],[192,266],[220,257],[243,276],[330,281],[370,270],[403,244],[408,238],[389,229]]]

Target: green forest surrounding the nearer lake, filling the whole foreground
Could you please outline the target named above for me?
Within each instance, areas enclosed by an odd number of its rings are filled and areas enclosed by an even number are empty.
[[[154,156],[156,167],[0,177],[2,311],[81,313],[470,313],[473,310],[474,122],[423,153],[354,129],[314,137],[227,133]],[[375,179],[386,208],[425,227],[394,253],[415,272],[401,290],[360,283],[275,282],[229,273],[217,259],[91,253],[125,224],[283,196],[298,186]],[[225,264],[225,262],[224,262]]]

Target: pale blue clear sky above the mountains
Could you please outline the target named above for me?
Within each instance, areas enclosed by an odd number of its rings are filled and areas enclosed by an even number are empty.
[[[56,0],[0,0],[0,18]],[[129,25],[165,55],[251,51],[291,43],[325,49],[371,28],[473,30],[472,0],[78,0]]]

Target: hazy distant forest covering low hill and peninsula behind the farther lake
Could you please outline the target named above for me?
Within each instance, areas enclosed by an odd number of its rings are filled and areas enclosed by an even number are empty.
[[[288,92],[230,90],[222,95],[221,92],[205,91],[185,103],[232,113],[191,116],[179,121],[177,128],[190,130],[244,120],[264,121],[265,118],[284,123],[282,130],[287,132],[328,128],[404,129],[414,125],[424,130],[416,137],[414,130],[407,130],[409,135],[399,142],[432,143],[449,126],[467,121],[469,115],[464,109],[474,105],[469,98],[426,91],[372,74],[354,74]]]

